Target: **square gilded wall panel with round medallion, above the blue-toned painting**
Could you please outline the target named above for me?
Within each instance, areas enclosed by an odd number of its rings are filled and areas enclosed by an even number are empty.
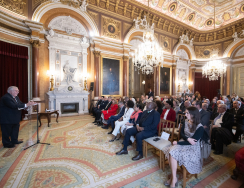
[[[121,40],[121,22],[102,16],[102,36]]]

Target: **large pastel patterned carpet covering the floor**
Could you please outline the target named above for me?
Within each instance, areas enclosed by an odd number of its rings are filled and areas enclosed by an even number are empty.
[[[24,143],[15,148],[3,148],[0,142],[0,187],[11,188],[147,188],[165,187],[163,182],[170,175],[159,169],[158,157],[150,150],[148,157],[132,161],[136,155],[133,146],[129,154],[116,156],[122,148],[122,139],[108,142],[110,130],[101,129],[89,115],[60,117],[59,123],[52,118],[50,127],[42,120],[39,128],[41,142],[27,150],[25,147],[36,142],[36,122],[20,124],[19,140]],[[234,154],[244,144],[231,144],[224,148],[223,155],[213,155],[204,162],[198,179],[192,178],[187,187],[239,188],[240,178],[230,178],[235,168]],[[179,187],[182,175],[178,173]]]

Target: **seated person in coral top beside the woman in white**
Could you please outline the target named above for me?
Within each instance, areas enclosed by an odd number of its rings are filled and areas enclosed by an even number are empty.
[[[134,107],[134,112],[131,114],[129,122],[127,122],[125,125],[123,125],[121,127],[121,132],[123,133],[124,136],[125,136],[127,129],[135,127],[136,124],[139,124],[139,121],[141,119],[141,115],[142,115],[141,105],[137,104]],[[135,141],[134,136],[131,136],[130,140],[131,140],[131,143],[133,143]]]

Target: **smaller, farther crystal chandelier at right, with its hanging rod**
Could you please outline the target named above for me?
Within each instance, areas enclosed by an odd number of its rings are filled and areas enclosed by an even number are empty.
[[[215,1],[214,1],[214,30],[215,30]],[[215,44],[214,44],[215,46]],[[210,61],[207,62],[202,68],[202,76],[208,77],[209,81],[218,80],[226,74],[226,64],[221,60],[217,59],[219,54],[219,49],[214,48],[210,54]]]

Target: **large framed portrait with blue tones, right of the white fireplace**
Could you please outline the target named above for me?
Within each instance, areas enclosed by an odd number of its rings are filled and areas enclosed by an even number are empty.
[[[120,95],[120,60],[102,58],[102,95]]]

